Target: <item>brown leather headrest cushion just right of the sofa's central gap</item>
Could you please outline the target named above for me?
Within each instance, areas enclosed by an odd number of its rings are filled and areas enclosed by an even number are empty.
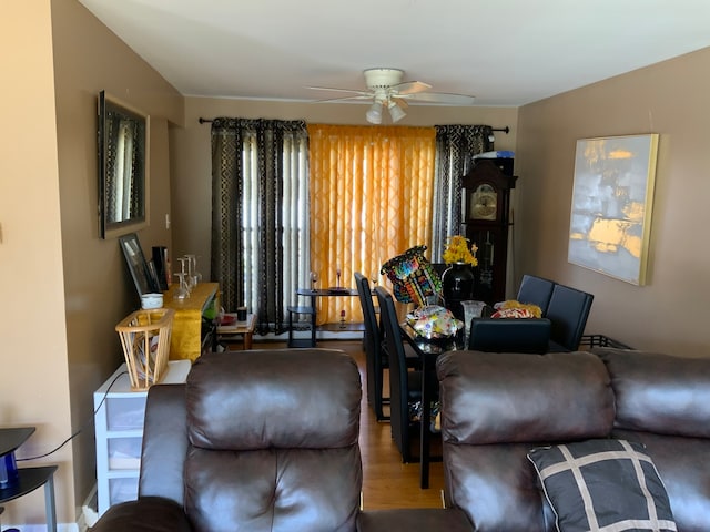
[[[439,356],[436,366],[445,442],[556,442],[611,431],[609,376],[589,352],[460,350]]]

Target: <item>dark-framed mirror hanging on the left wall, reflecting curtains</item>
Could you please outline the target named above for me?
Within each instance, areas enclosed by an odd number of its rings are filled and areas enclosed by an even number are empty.
[[[149,224],[149,117],[99,93],[99,218],[102,238]]]

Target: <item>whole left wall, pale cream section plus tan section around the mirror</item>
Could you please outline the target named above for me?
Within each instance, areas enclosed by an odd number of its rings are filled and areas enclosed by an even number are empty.
[[[183,98],[75,0],[11,0],[0,22],[0,426],[37,426],[18,452],[59,466],[60,523],[95,483],[93,390],[122,361],[115,324],[138,308],[118,242],[99,237],[97,95],[152,115],[151,227],[170,244],[169,124]],[[155,222],[159,223],[155,223]],[[3,523],[44,522],[42,490]]]

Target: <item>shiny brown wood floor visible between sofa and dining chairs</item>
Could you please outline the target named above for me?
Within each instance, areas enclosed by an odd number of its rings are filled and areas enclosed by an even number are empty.
[[[280,342],[254,342],[254,349],[285,347]],[[402,463],[402,456],[392,440],[388,422],[377,422],[367,405],[365,354],[359,340],[325,340],[318,347],[342,349],[359,368],[363,382],[359,446],[363,456],[363,507],[366,510],[388,508],[442,508],[444,475],[442,463],[432,463],[429,488],[419,488],[419,464]],[[385,376],[386,380],[386,376]]]

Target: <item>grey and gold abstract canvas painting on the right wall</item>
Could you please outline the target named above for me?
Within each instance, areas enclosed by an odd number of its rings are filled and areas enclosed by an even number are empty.
[[[656,133],[577,141],[571,264],[646,284],[657,152]]]

